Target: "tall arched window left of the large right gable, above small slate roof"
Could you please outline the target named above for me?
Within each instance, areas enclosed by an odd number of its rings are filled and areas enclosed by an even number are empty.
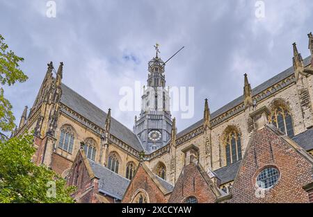
[[[225,138],[226,164],[232,164],[241,160],[240,134],[235,130],[230,131]]]

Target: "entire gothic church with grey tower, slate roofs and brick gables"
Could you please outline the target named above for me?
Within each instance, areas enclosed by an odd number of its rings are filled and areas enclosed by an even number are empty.
[[[313,202],[313,36],[303,59],[178,132],[165,64],[148,63],[134,129],[62,83],[54,65],[13,136],[33,130],[33,161],[77,186],[77,202]],[[113,108],[114,109],[114,108]]]

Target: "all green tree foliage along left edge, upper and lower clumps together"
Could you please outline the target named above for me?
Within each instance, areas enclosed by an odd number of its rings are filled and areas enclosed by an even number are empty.
[[[66,186],[66,181],[47,166],[32,162],[32,135],[8,139],[2,133],[15,127],[12,105],[3,95],[3,86],[27,79],[19,69],[23,61],[8,51],[0,35],[0,202],[74,202],[70,196],[73,186]]]

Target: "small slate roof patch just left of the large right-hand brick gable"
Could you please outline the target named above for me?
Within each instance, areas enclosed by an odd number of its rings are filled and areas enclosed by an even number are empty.
[[[239,170],[240,164],[241,160],[239,162],[235,162],[233,164],[224,166],[214,171],[214,173],[216,173],[217,177],[220,179],[220,183],[225,184],[227,182],[234,180],[237,171]]]

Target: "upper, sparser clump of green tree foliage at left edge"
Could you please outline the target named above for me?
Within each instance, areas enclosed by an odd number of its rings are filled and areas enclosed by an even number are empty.
[[[8,51],[8,45],[0,35],[0,131],[8,132],[15,127],[12,105],[4,98],[3,86],[27,80],[27,76],[19,69],[19,63],[23,61],[24,58],[18,57],[13,51]]]

